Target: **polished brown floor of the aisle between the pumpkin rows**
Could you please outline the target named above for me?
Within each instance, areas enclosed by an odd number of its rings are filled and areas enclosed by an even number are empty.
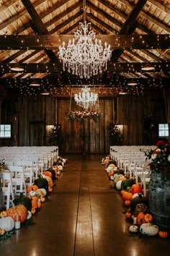
[[[0,242],[1,256],[168,256],[170,239],[129,234],[100,155],[69,155],[49,202]]]

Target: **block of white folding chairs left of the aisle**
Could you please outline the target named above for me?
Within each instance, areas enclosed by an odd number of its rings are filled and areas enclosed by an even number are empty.
[[[9,148],[13,151],[9,154],[12,155],[12,158],[9,158],[9,155],[5,153],[6,150],[0,148],[0,158],[5,158],[5,163],[9,168],[8,171],[0,173],[3,190],[3,205],[6,208],[14,206],[12,202],[20,193],[27,195],[26,187],[30,186],[34,180],[37,179],[39,174],[42,174],[43,171],[53,166],[54,161],[58,158],[58,150],[51,150],[51,148],[50,152],[47,153],[45,151],[45,154],[41,157],[34,159],[25,157],[26,155],[30,156],[30,152],[28,152],[30,149],[27,151],[27,148],[24,148],[24,154],[22,152],[21,158],[16,158],[15,153],[17,152],[17,148],[14,147],[16,152],[13,147]],[[42,153],[42,151],[40,152]]]

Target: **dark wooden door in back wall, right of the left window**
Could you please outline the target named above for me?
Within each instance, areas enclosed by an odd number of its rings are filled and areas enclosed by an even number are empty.
[[[30,146],[45,146],[45,136],[46,133],[44,121],[30,122]]]

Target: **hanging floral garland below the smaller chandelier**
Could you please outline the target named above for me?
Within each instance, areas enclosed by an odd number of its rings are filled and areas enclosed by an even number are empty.
[[[102,114],[100,111],[70,111],[68,114],[68,120],[82,120],[82,119],[93,119],[98,121],[102,119]]]

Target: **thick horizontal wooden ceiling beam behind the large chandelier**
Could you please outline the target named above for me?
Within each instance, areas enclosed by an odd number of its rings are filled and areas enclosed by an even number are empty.
[[[58,50],[73,35],[0,35],[0,50]],[[169,35],[96,35],[112,49],[168,49]],[[113,61],[114,62],[114,61]]]

